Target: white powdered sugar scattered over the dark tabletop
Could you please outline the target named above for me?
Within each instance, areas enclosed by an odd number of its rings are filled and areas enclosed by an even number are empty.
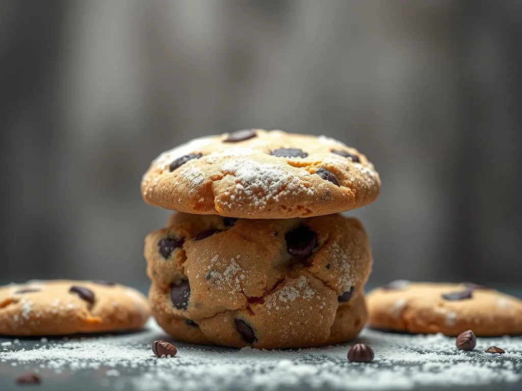
[[[78,384],[88,378],[88,382],[96,382],[94,389],[137,391],[384,390],[493,383],[496,389],[503,385],[516,389],[517,382],[522,386],[521,337],[478,338],[476,350],[467,352],[458,351],[455,339],[443,335],[387,334],[366,329],[361,339],[375,351],[372,363],[348,362],[348,345],[266,351],[175,343],[175,358],[157,359],[150,344],[159,338],[168,340],[155,323],[149,322],[147,331],[131,335],[54,341],[2,339],[0,373],[5,378],[6,373],[15,376],[15,371],[40,371],[42,386],[46,379],[56,385],[60,378]],[[506,353],[485,353],[491,345],[502,347]],[[86,376],[89,372],[96,375]],[[0,379],[0,388],[2,384]]]

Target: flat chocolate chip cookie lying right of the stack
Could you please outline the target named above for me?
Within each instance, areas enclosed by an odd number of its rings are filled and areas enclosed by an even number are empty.
[[[398,280],[367,296],[369,325],[409,333],[457,336],[522,334],[522,300],[473,284]]]

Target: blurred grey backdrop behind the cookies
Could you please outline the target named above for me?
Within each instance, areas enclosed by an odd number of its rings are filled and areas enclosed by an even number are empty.
[[[2,280],[144,282],[161,151],[325,134],[381,174],[354,211],[393,278],[522,275],[522,2],[0,3]]]

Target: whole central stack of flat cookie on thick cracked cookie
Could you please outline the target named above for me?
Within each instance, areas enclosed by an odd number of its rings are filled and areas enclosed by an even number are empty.
[[[152,313],[196,344],[337,344],[367,319],[372,256],[363,225],[338,214],[381,182],[366,157],[324,136],[247,129],[162,153],[144,175],[175,210],[145,240]]]

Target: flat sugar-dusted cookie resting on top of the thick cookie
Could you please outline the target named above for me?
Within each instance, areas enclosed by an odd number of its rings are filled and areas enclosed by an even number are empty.
[[[340,141],[262,129],[189,141],[162,153],[141,181],[151,205],[240,218],[348,211],[380,189],[373,164]]]

